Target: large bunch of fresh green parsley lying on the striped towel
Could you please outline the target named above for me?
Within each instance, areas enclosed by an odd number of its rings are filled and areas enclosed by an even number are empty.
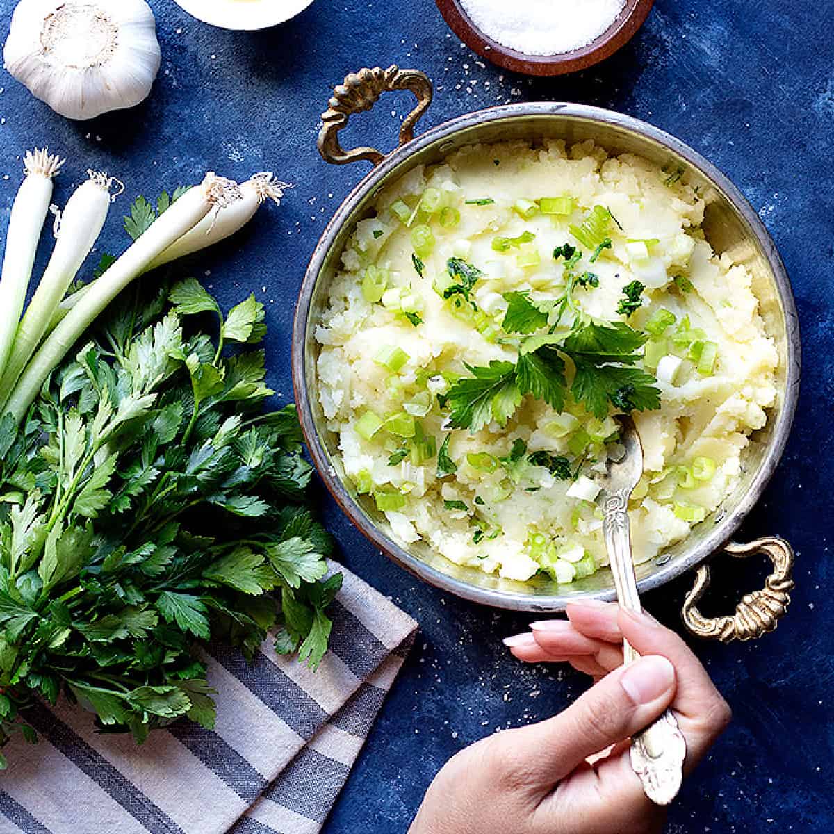
[[[251,657],[274,630],[319,663],[341,575],[294,406],[263,408],[264,332],[254,296],[224,315],[194,279],[136,292],[0,420],[0,743],[61,692],[137,741],[213,726],[203,641]]]

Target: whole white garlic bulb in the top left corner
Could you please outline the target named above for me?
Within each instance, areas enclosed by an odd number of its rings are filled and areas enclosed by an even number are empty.
[[[133,107],[150,92],[160,53],[144,0],[21,0],[3,61],[68,118]]]

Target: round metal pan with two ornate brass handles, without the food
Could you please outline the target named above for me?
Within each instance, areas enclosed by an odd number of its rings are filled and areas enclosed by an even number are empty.
[[[349,114],[371,107],[386,89],[402,88],[411,89],[420,103],[403,124],[400,147],[387,155],[374,148],[345,152],[339,145],[338,132],[347,123]],[[296,401],[310,454],[325,485],[359,530],[380,550],[420,579],[467,600],[513,610],[560,611],[574,600],[614,598],[612,578],[607,569],[571,585],[557,585],[544,577],[520,583],[454,565],[422,542],[407,547],[400,545],[391,535],[384,515],[374,509],[372,502],[356,495],[344,478],[337,439],[327,430],[319,406],[316,379],[318,345],[314,339],[314,326],[327,303],[329,284],[339,267],[344,244],[356,222],[369,214],[380,188],[416,165],[439,163],[457,148],[472,143],[511,139],[537,143],[548,138],[574,143],[590,138],[610,153],[636,153],[659,167],[686,168],[693,182],[701,185],[706,195],[703,229],[707,238],[717,253],[731,254],[736,263],[744,264],[751,271],[767,332],[776,342],[779,354],[776,404],[770,411],[766,427],[751,437],[738,488],[718,510],[696,525],[686,540],[671,546],[656,559],[638,565],[636,573],[640,589],[645,591],[703,565],[726,545],[761,497],[785,448],[796,408],[800,375],[796,309],[790,282],[770,235],[750,204],[714,165],[678,139],[636,118],[580,104],[519,103],[467,113],[419,138],[412,138],[414,123],[428,107],[430,98],[430,82],[422,73],[395,67],[362,70],[345,78],[344,84],[335,89],[330,108],[323,116],[319,148],[324,158],[334,163],[348,163],[354,159],[369,159],[374,163],[374,169],[339,206],[324,230],[309,262],[295,314],[293,379]],[[748,595],[735,617],[719,618],[720,622],[710,620],[709,625],[702,622],[699,626],[700,615],[695,602],[709,580],[706,567],[701,570],[698,585],[687,600],[689,610],[688,613],[685,611],[685,619],[693,629],[700,629],[701,633],[711,629],[716,636],[725,636],[725,639],[753,636],[754,631],[761,633],[773,627],[775,617],[768,615],[765,609],[786,606],[789,601],[787,591],[792,587],[792,554],[786,543],[761,540],[731,547],[731,552],[736,555],[766,550],[773,557],[776,570],[768,580],[768,587]],[[747,610],[751,605],[752,613]],[[755,622],[752,625],[748,622],[747,627],[743,627],[746,618]]]

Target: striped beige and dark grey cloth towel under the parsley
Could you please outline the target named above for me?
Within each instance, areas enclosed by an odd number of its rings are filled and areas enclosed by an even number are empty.
[[[212,646],[213,731],[178,722],[143,746],[67,703],[34,706],[40,741],[4,752],[0,834],[315,834],[333,806],[416,623],[344,572],[330,650],[312,672],[261,646]]]

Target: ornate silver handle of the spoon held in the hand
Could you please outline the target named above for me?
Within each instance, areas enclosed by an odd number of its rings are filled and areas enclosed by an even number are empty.
[[[629,490],[605,495],[605,545],[608,547],[611,572],[617,598],[623,608],[642,610],[634,562],[631,557],[631,526],[628,518]],[[639,657],[628,641],[623,643],[623,662]],[[683,781],[686,739],[671,710],[666,710],[654,724],[631,739],[631,767],[640,777],[646,796],[657,805],[669,805]]]

